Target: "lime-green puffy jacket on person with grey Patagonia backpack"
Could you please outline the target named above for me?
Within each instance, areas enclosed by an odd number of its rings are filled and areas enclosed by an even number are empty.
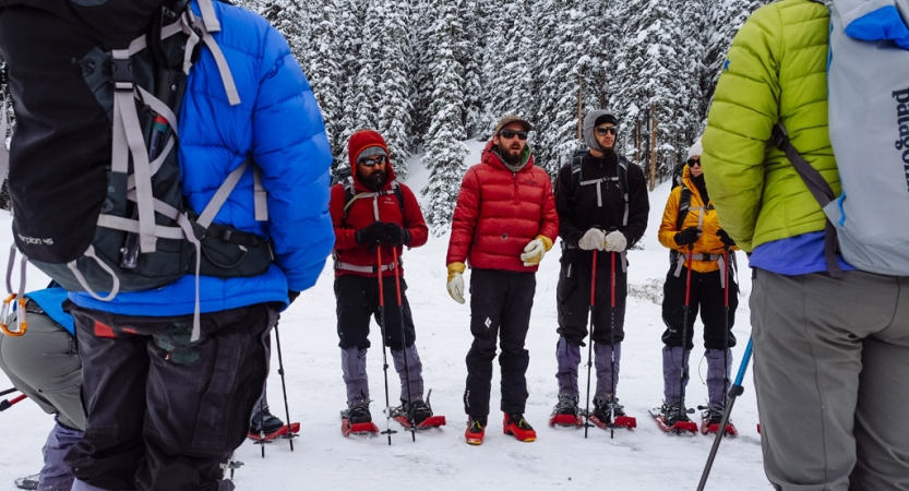
[[[834,193],[840,192],[827,133],[828,38],[824,4],[781,0],[755,11],[729,48],[701,161],[720,225],[745,251],[824,230],[821,206],[769,143],[778,121]]]

